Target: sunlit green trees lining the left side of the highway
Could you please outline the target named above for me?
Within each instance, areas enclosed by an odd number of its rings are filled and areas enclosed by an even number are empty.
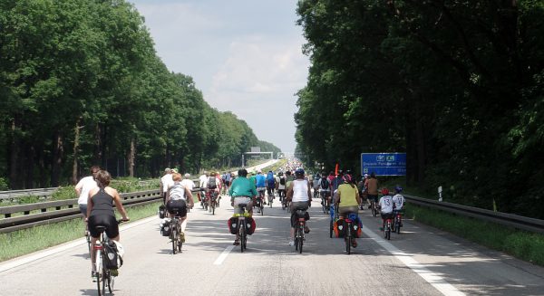
[[[75,182],[93,164],[131,177],[238,166],[254,146],[279,152],[170,72],[127,1],[0,1],[0,179],[12,189]]]

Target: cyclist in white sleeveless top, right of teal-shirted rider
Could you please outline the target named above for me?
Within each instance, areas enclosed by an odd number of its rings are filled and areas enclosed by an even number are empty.
[[[295,245],[295,227],[296,227],[296,210],[307,210],[312,202],[312,192],[310,182],[304,177],[304,169],[297,168],[295,170],[296,179],[291,181],[287,188],[287,200],[291,201],[291,241],[290,246]],[[306,220],[310,217],[306,212]],[[306,224],[304,232],[310,232],[310,228]]]

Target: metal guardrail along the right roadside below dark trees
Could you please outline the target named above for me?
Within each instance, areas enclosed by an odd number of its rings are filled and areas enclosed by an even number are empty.
[[[544,220],[524,217],[521,215],[493,212],[491,210],[467,205],[457,205],[452,203],[439,202],[417,196],[404,196],[404,198],[406,198],[407,201],[414,205],[423,205],[426,207],[439,209],[457,215],[470,216],[496,224],[507,225],[517,229],[544,234]]]

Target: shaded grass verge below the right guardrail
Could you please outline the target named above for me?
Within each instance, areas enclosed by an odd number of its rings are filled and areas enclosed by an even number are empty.
[[[544,235],[417,205],[406,205],[406,217],[544,266]]]

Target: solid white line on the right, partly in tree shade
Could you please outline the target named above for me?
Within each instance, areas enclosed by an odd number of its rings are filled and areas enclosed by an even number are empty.
[[[371,230],[368,229],[368,227],[363,227],[364,234],[370,236],[374,239],[374,241],[378,244],[380,244],[387,252],[392,253],[398,260],[400,260],[404,265],[410,267],[410,269],[413,270],[413,272],[419,274],[423,280],[429,282],[432,284],[432,286],[438,290],[441,291],[442,294],[447,296],[461,296],[465,295],[465,293],[457,290],[457,288],[453,287],[452,284],[449,282],[444,281],[442,277],[437,275],[434,272],[431,272],[427,268],[425,268],[425,265],[422,263],[418,263],[413,259],[413,256],[409,253],[404,253],[401,250],[397,249],[393,244],[386,242],[384,238],[382,238],[381,235],[374,234]]]

